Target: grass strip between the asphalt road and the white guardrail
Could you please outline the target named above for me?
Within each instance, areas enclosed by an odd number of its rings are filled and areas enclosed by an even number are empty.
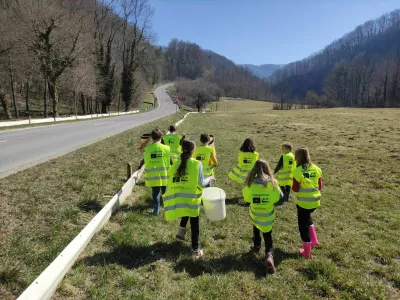
[[[184,113],[0,180],[0,299],[15,299],[121,188],[140,135]]]

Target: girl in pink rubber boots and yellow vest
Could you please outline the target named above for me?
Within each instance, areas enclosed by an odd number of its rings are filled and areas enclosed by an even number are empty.
[[[311,162],[310,153],[305,147],[295,152],[297,168],[293,172],[293,192],[297,199],[297,219],[303,241],[300,254],[311,258],[311,246],[319,244],[311,213],[320,206],[322,190],[322,171]]]

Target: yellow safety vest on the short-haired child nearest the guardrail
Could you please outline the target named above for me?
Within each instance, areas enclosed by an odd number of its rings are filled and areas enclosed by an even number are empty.
[[[145,183],[148,187],[166,186],[170,150],[161,143],[154,143],[144,150]]]

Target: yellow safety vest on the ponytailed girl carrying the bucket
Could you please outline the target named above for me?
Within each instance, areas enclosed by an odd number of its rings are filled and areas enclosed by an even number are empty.
[[[197,217],[200,214],[203,188],[199,186],[200,162],[191,158],[187,161],[185,176],[179,177],[180,161],[168,171],[167,191],[163,195],[165,218],[173,221],[182,217]]]

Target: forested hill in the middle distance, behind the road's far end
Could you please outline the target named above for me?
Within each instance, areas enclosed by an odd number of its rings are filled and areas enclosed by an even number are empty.
[[[269,85],[265,80],[195,43],[174,39],[165,56],[164,76],[167,80],[203,78],[221,88],[228,97],[265,100],[268,94]]]

